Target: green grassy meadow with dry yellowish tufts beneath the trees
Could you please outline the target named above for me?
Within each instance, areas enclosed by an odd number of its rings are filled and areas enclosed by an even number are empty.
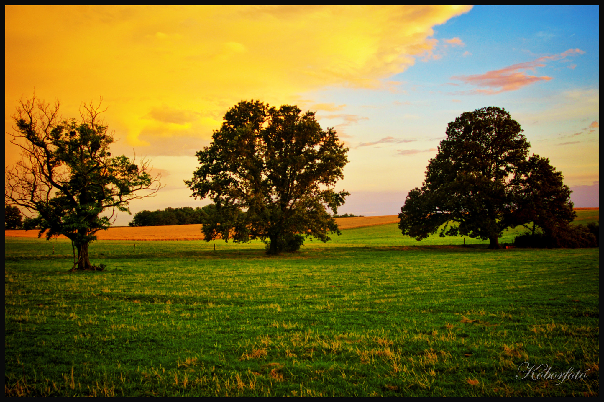
[[[462,244],[98,241],[69,274],[69,241],[6,237],[5,395],[598,396],[599,249]]]

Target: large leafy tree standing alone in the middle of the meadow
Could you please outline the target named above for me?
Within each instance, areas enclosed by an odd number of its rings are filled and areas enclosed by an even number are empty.
[[[313,112],[243,101],[229,109],[210,146],[197,153],[201,166],[185,184],[195,197],[214,202],[203,230],[210,241],[259,238],[268,253],[294,251],[304,236],[323,242],[338,233],[334,213],[345,191],[348,149],[333,129],[323,131]]]

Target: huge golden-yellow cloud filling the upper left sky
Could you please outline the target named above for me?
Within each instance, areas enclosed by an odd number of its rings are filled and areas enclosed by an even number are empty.
[[[431,57],[433,27],[470,9],[8,5],[5,115],[34,87],[61,99],[66,116],[102,95],[130,146],[207,140],[242,99],[279,106],[326,86],[391,90],[388,77]]]

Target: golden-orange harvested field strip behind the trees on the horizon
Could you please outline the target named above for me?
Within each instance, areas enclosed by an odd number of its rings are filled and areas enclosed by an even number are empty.
[[[355,218],[336,218],[340,229],[385,225],[396,223],[396,215],[360,216]],[[37,230],[5,230],[4,236],[35,238]],[[65,239],[64,236],[59,238]],[[110,227],[97,232],[98,240],[203,240],[201,225]]]

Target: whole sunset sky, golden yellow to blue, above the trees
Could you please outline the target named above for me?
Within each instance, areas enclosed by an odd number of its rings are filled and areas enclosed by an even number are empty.
[[[114,153],[148,158],[167,184],[133,213],[207,204],[182,181],[250,99],[335,126],[350,147],[342,213],[398,213],[446,124],[484,106],[599,194],[599,7],[5,6],[5,131],[34,91],[64,117],[102,97]]]

